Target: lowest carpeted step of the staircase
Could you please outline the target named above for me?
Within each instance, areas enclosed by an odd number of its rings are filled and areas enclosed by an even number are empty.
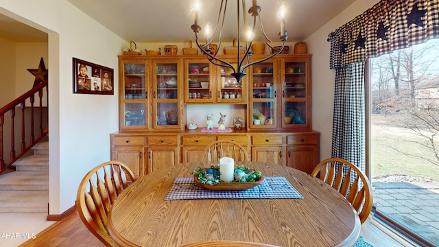
[[[49,191],[0,191],[0,212],[47,212]]]

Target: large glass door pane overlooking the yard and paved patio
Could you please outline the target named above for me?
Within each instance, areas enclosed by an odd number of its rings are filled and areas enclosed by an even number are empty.
[[[439,245],[439,40],[370,60],[377,212]]]

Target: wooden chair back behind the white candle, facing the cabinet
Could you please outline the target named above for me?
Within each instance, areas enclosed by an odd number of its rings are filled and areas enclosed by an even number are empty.
[[[250,161],[246,148],[236,141],[213,141],[204,148],[202,161],[218,163],[222,157],[230,157],[235,161]]]

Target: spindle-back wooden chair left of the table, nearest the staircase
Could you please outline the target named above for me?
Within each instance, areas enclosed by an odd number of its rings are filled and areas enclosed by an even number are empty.
[[[119,246],[107,231],[107,215],[119,194],[134,182],[130,168],[107,161],[88,172],[80,183],[76,209],[82,222],[106,246]]]

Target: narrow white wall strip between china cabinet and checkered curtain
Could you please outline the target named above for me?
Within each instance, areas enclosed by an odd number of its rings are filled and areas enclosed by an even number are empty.
[[[357,0],[305,41],[312,57],[312,128],[320,134],[320,160],[331,156],[335,71],[329,69],[328,35],[378,3]]]

